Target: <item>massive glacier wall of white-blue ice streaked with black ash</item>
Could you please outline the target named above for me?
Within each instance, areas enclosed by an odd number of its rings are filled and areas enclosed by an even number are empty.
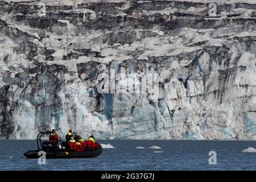
[[[250,0],[2,0],[0,138],[256,139],[255,18]],[[158,100],[98,93],[110,68],[153,69]]]

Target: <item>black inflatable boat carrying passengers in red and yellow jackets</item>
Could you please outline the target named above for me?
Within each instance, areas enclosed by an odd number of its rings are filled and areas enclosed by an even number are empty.
[[[38,134],[36,142],[38,143],[38,150],[30,150],[24,153],[27,158],[40,158],[42,155],[46,155],[46,158],[93,158],[101,154],[103,151],[100,144],[96,150],[85,150],[83,152],[73,152],[65,150],[65,142],[61,142],[59,138],[57,145],[51,144],[51,142],[42,142],[42,135],[50,135],[51,131],[44,131]]]

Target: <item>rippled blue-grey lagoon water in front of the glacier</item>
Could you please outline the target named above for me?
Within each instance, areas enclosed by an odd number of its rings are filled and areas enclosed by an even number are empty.
[[[1,170],[256,170],[253,141],[188,140],[100,140],[115,148],[105,148],[97,158],[27,159],[23,153],[36,149],[34,140],[0,140]],[[136,147],[145,149],[136,149]],[[159,146],[162,149],[148,149]],[[158,151],[158,152],[155,152]],[[210,165],[209,151],[216,151],[217,164]]]

